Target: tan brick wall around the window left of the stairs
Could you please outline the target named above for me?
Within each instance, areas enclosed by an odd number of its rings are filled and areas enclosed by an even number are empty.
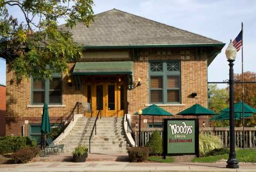
[[[74,63],[69,63],[69,70],[73,66]],[[8,65],[6,68],[8,69]],[[71,110],[76,102],[82,102],[85,99],[83,79],[81,79],[81,89],[76,89],[75,80],[73,80],[73,86],[69,87],[67,79],[68,76],[63,75],[63,105],[59,107],[49,105],[50,122],[56,122],[58,117]],[[29,124],[41,122],[43,108],[31,106],[30,84],[30,79],[22,79],[17,85],[14,73],[6,73],[6,135],[21,135],[21,127],[25,120],[28,120]]]

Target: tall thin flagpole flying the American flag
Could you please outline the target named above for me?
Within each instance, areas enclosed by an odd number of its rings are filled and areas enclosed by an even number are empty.
[[[243,34],[244,34],[244,24],[242,22],[242,113],[243,113],[243,141],[245,143],[244,140],[244,57],[243,57],[243,46],[244,46],[244,42],[243,42]],[[245,148],[245,145],[243,143],[243,148]]]

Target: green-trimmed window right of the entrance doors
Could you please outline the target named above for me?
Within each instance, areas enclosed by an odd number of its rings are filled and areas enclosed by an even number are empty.
[[[150,62],[150,103],[181,102],[180,61]]]

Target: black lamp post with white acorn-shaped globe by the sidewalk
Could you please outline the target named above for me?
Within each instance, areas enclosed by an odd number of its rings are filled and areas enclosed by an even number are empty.
[[[236,59],[236,48],[230,40],[226,50],[229,62],[229,158],[227,168],[239,168],[235,153],[235,119],[234,119],[234,61]]]

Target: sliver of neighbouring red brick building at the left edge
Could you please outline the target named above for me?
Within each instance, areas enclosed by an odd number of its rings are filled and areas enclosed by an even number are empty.
[[[0,84],[0,136],[5,136],[6,87]]]

